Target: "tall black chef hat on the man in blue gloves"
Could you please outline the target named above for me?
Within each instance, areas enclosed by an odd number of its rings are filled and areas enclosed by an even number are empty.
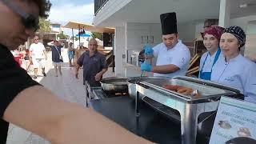
[[[162,35],[177,34],[176,13],[166,13],[160,15],[162,24]]]

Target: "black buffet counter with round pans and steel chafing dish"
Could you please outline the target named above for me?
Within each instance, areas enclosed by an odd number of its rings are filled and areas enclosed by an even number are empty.
[[[86,106],[156,143],[209,143],[222,96],[239,90],[198,78],[105,78],[86,82]]]

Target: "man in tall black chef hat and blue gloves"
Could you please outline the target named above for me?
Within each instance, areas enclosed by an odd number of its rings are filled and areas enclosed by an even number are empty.
[[[154,72],[156,77],[173,78],[186,75],[190,63],[190,50],[178,40],[177,20],[175,13],[160,15],[162,24],[162,43],[146,46],[146,58],[157,58],[156,66],[150,66],[147,61],[142,63],[141,70]]]

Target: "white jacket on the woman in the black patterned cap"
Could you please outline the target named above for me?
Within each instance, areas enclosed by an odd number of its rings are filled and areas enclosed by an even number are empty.
[[[256,64],[241,54],[230,62],[219,59],[213,67],[211,80],[234,87],[245,95],[246,101],[256,102]]]

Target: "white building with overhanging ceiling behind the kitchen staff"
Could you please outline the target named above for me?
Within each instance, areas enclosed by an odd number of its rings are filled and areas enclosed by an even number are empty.
[[[206,19],[218,19],[219,26],[241,26],[247,34],[245,55],[256,54],[255,0],[94,0],[95,26],[115,27],[116,76],[139,76],[138,66],[130,66],[132,50],[142,50],[162,42],[159,15],[176,12],[182,42],[200,37]],[[128,51],[128,52],[127,52]]]

